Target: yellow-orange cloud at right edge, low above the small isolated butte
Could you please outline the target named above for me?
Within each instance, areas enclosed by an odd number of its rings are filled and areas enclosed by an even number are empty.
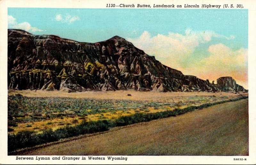
[[[248,89],[248,49],[232,50],[220,43],[209,46],[208,51],[210,56],[186,68],[187,73],[210,80],[231,76]]]

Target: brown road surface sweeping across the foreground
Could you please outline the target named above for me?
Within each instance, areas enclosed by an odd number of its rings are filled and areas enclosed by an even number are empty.
[[[18,154],[248,155],[248,132],[242,99]]]

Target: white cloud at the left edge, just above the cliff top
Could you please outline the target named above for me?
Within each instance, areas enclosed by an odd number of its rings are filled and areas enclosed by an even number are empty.
[[[41,29],[38,29],[37,27],[31,26],[28,22],[18,23],[16,21],[16,18],[12,17],[11,15],[8,15],[8,28],[21,29],[21,30],[31,31],[31,32],[43,31]]]

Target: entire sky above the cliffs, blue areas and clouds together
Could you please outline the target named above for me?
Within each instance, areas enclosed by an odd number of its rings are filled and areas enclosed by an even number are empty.
[[[248,10],[8,8],[8,28],[91,43],[118,35],[185,75],[248,89]]]

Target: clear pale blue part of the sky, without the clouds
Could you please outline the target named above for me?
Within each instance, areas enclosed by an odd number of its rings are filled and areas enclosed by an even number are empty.
[[[64,19],[68,14],[79,19],[72,23],[56,21],[58,14]],[[248,47],[247,10],[8,8],[8,15],[18,23],[28,22],[43,30],[33,34],[54,34],[81,42],[98,42],[115,35],[136,38],[144,31],[152,35],[184,34],[190,28],[234,35],[234,42]]]

